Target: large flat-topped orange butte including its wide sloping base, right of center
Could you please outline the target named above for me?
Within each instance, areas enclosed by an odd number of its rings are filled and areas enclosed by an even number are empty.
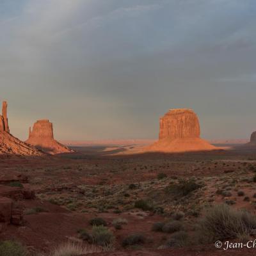
[[[145,150],[190,152],[217,149],[200,138],[199,120],[192,109],[170,109],[160,118],[159,128],[159,140]]]

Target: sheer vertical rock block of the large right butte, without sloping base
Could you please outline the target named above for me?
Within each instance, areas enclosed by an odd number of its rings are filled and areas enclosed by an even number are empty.
[[[192,109],[170,109],[160,118],[159,140],[200,138],[198,117]]]

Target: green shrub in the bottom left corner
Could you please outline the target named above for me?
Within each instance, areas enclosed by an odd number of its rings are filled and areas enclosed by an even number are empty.
[[[28,253],[24,247],[13,241],[0,242],[0,256],[26,256]]]

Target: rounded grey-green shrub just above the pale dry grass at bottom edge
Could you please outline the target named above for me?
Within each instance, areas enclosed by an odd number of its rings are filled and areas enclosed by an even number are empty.
[[[115,237],[108,228],[103,226],[94,226],[92,228],[92,240],[93,243],[97,245],[110,246],[115,240]]]

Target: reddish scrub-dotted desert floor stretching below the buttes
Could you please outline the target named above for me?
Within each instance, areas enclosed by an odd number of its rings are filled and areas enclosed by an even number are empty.
[[[49,255],[65,241],[92,244],[99,221],[111,234],[111,252],[102,255],[220,255],[214,243],[195,239],[205,209],[225,204],[255,214],[252,151],[112,156],[116,147],[75,149],[56,157],[1,157],[1,240]],[[177,227],[160,227],[171,221]],[[190,242],[170,246],[175,234]]]

